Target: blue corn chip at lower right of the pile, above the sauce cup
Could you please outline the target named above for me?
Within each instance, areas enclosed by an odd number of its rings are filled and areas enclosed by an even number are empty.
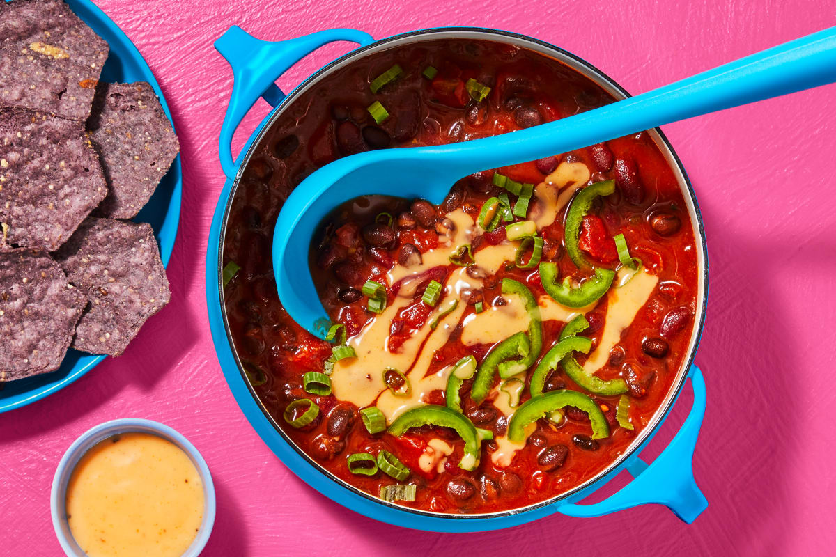
[[[90,217],[54,256],[89,301],[75,330],[77,350],[120,356],[171,298],[160,248],[145,223]]]

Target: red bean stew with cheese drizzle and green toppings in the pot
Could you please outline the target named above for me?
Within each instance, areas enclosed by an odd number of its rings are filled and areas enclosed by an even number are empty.
[[[551,499],[629,450],[697,314],[694,230],[649,134],[485,170],[441,205],[341,206],[307,262],[327,341],[288,317],[271,262],[283,201],[332,160],[613,100],[543,54],[455,39],[360,58],[278,115],[232,198],[223,296],[242,367],[298,448],[366,494],[448,514]]]

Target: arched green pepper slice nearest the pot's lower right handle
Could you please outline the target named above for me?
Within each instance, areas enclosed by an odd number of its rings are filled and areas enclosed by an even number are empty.
[[[592,438],[603,439],[609,437],[609,424],[604,413],[592,398],[577,391],[552,391],[537,397],[529,398],[508,422],[508,439],[514,443],[523,443],[525,428],[529,423],[553,413],[559,408],[573,406],[589,414],[592,422]]]

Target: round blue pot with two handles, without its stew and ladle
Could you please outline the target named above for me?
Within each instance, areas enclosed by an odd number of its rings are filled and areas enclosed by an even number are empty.
[[[283,111],[289,105],[293,104],[294,99],[297,99],[299,94],[309,88],[316,87],[319,80],[324,76],[384,48],[397,48],[408,43],[444,38],[482,39],[527,48],[542,53],[549,58],[556,58],[580,73],[584,73],[618,99],[628,96],[626,91],[621,89],[612,79],[583,59],[537,39],[494,29],[426,29],[379,41],[375,41],[368,33],[353,29],[330,29],[273,43],[253,38],[241,28],[232,27],[215,43],[215,48],[232,66],[235,83],[232,88],[232,97],[229,101],[227,114],[223,121],[219,144],[221,165],[224,174],[227,176],[227,181],[223,186],[212,219],[212,229],[206,249],[206,305],[209,311],[212,340],[215,343],[218,361],[232,394],[258,435],[293,473],[296,473],[299,478],[329,499],[333,499],[359,514],[386,523],[438,532],[472,532],[524,524],[555,512],[569,516],[593,517],[629,509],[640,504],[663,504],[680,519],[690,524],[707,506],[706,498],[701,494],[694,481],[691,460],[706,409],[706,384],[700,370],[693,365],[693,358],[699,344],[706,314],[708,266],[705,231],[703,230],[694,191],[688,182],[680,160],[659,129],[650,130],[649,133],[675,171],[686,205],[688,205],[691,225],[700,236],[700,241],[696,243],[697,261],[700,269],[696,327],[691,334],[685,363],[679,370],[674,387],[671,388],[660,410],[655,414],[648,427],[637,436],[630,450],[622,454],[614,463],[610,464],[609,468],[606,468],[593,479],[589,479],[577,488],[553,499],[500,513],[462,515],[407,509],[365,494],[321,468],[283,433],[278,423],[273,420],[270,413],[258,401],[255,391],[247,379],[247,374],[243,371],[241,362],[237,357],[235,347],[232,345],[232,339],[227,329],[222,296],[223,238],[231,200],[237,189],[242,170],[247,167],[250,155],[273,121],[280,114],[283,114]],[[308,53],[326,43],[335,41],[358,43],[359,48],[319,69],[303,84],[298,85],[292,93],[286,95],[278,89],[274,82],[283,72]],[[270,104],[273,110],[263,119],[248,139],[241,154],[234,158],[231,150],[232,134],[259,97]],[[675,404],[689,378],[694,392],[691,412],[679,432],[676,433],[660,456],[655,458],[652,463],[645,463],[640,458],[642,449],[653,438],[661,423],[665,421],[670,408]],[[633,476],[633,480],[629,484],[599,503],[580,503],[610,479],[613,479],[622,469],[626,469]]]

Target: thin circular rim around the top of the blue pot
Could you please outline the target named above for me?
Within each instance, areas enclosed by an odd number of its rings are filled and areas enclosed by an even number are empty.
[[[380,50],[384,50],[386,48],[395,48],[404,43],[413,43],[415,42],[415,39],[422,41],[438,40],[440,38],[474,38],[492,42],[507,43],[521,48],[527,48],[529,50],[532,50],[533,52],[539,53],[548,58],[553,58],[557,60],[559,63],[565,64],[566,66],[568,66],[568,68],[572,68],[573,70],[584,74],[584,76],[593,80],[594,83],[598,84],[600,87],[605,89],[607,92],[609,92],[609,94],[612,94],[616,99],[620,100],[631,96],[623,87],[616,83],[613,78],[610,78],[609,75],[603,73],[594,65],[585,61],[584,58],[580,58],[579,56],[570,53],[567,50],[564,50],[563,48],[559,48],[557,46],[554,46],[553,44],[547,43],[538,38],[532,38],[520,33],[512,33],[509,31],[503,31],[499,29],[466,26],[426,28],[417,31],[410,31],[408,33],[400,33],[397,35],[390,36],[388,38],[382,38],[375,41],[374,43],[370,43],[364,47],[356,48],[350,51],[349,53],[345,53],[339,58],[334,59],[332,62],[327,63],[322,68],[319,68],[316,72],[308,76],[308,78],[305,78],[301,84],[298,84],[298,86],[295,89],[293,89],[293,91],[289,93],[287,97],[283,99],[282,102],[278,104],[267,115],[267,117],[263,119],[263,122],[259,124],[257,130],[252,134],[252,140],[247,144],[247,152],[241,159],[241,163],[238,166],[237,174],[234,180],[229,180],[232,182],[232,185],[227,195],[226,204],[223,208],[222,221],[218,235],[218,298],[216,300],[216,303],[220,305],[220,314],[222,316],[222,325],[224,328],[224,333],[226,335],[227,344],[230,348],[230,351],[232,352],[232,357],[234,358],[237,364],[240,377],[246,385],[247,391],[250,393],[250,396],[252,396],[253,401],[257,404],[257,407],[261,410],[264,417],[267,418],[268,422],[273,426],[273,429],[279,434],[283,441],[285,441],[290,448],[292,448],[296,453],[298,453],[298,455],[301,456],[306,463],[315,468],[317,472],[321,474],[322,478],[329,479],[337,487],[347,489],[351,494],[359,495],[360,497],[370,500],[375,504],[379,504],[382,508],[403,511],[407,514],[419,515],[430,519],[468,521],[499,519],[517,514],[528,514],[538,509],[543,509],[544,507],[552,505],[555,507],[555,509],[557,509],[559,504],[565,504],[568,502],[573,502],[575,500],[584,499],[589,494],[592,494],[596,489],[599,489],[606,482],[608,482],[609,479],[612,479],[614,473],[623,468],[624,465],[628,463],[631,458],[637,458],[639,456],[641,451],[646,447],[647,443],[650,442],[650,439],[653,438],[655,433],[657,433],[661,424],[664,423],[665,418],[667,418],[668,414],[670,413],[670,409],[673,408],[673,405],[675,404],[680,393],[682,392],[683,387],[685,387],[688,376],[688,370],[693,365],[694,357],[696,356],[696,350],[699,347],[700,337],[702,334],[703,327],[705,325],[706,307],[708,299],[708,259],[706,234],[702,222],[701,211],[696,200],[695,192],[691,185],[691,180],[688,179],[685,168],[682,165],[679,156],[675,153],[673,146],[670,144],[670,141],[665,137],[665,134],[663,134],[661,129],[650,129],[647,130],[647,133],[649,133],[650,136],[654,139],[655,144],[659,147],[661,153],[665,156],[665,160],[667,160],[668,164],[670,165],[670,168],[674,171],[676,181],[680,186],[680,190],[683,194],[683,198],[686,201],[686,205],[688,205],[688,215],[691,218],[691,226],[695,233],[695,240],[697,240],[695,241],[695,246],[697,250],[698,268],[698,287],[696,300],[698,319],[695,319],[695,324],[693,330],[691,331],[691,339],[688,344],[687,357],[683,360],[682,365],[679,371],[677,372],[677,377],[675,378],[674,383],[675,387],[670,388],[670,391],[667,393],[665,397],[664,403],[662,403],[662,405],[660,405],[660,408],[657,409],[648,426],[646,426],[642,430],[642,432],[638,436],[636,436],[633,443],[630,444],[629,448],[626,451],[624,451],[624,453],[619,455],[619,458],[616,458],[614,461],[610,462],[606,468],[602,469],[599,473],[596,473],[592,478],[586,480],[582,484],[575,486],[573,489],[564,492],[563,494],[559,494],[552,498],[545,499],[535,504],[529,504],[525,507],[520,507],[517,509],[509,509],[500,512],[480,514],[436,513],[421,509],[412,509],[410,507],[390,503],[388,501],[384,501],[383,499],[376,498],[374,495],[367,494],[364,491],[357,489],[352,484],[349,484],[344,480],[334,476],[334,474],[330,473],[326,468],[323,468],[313,458],[310,458],[308,454],[305,453],[305,451],[303,451],[302,448],[299,448],[298,445],[293,442],[292,438],[290,438],[286,433],[284,433],[277,420],[273,418],[268,409],[264,407],[261,399],[257,396],[257,393],[253,389],[252,384],[250,383],[247,377],[247,373],[243,369],[242,359],[238,356],[237,349],[235,347],[234,342],[232,341],[232,336],[228,327],[227,310],[226,304],[224,303],[223,299],[222,289],[222,261],[224,250],[224,238],[226,237],[227,232],[227,221],[230,209],[232,207],[232,200],[235,197],[238,185],[240,185],[241,182],[243,170],[247,167],[247,164],[249,160],[252,158],[252,155],[261,145],[265,135],[268,133],[269,129],[272,128],[276,119],[278,119],[281,116],[281,114],[283,114],[284,110],[287,109],[288,106],[290,106],[290,104],[292,104],[293,101],[297,99],[300,94],[303,94],[303,92],[316,86],[322,78],[326,77],[330,73],[333,73],[337,69],[344,67],[344,65],[348,63],[353,63],[359,60],[360,58],[364,58],[365,56],[371,53],[380,52]],[[282,460],[281,457],[279,457],[279,459]],[[291,468],[289,465],[288,468],[290,468],[291,471],[295,473],[295,470]],[[331,499],[329,495],[326,494],[326,496],[329,497],[329,499]]]

